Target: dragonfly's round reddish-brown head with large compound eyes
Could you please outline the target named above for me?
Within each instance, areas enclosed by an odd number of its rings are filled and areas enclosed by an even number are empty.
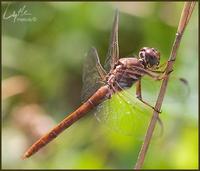
[[[154,48],[143,47],[140,49],[139,58],[147,68],[156,68],[160,64],[160,52]]]

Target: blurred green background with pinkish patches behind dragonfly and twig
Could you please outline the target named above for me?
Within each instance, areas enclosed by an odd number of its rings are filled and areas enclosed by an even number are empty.
[[[120,56],[138,54],[141,47],[150,46],[160,50],[164,62],[170,54],[183,3],[2,5],[2,168],[133,168],[142,140],[107,130],[93,113],[30,159],[20,157],[81,104],[85,54],[95,46],[103,63],[116,8],[120,11]],[[19,9],[30,15],[8,17]],[[184,100],[178,96],[174,103],[164,101],[161,119],[165,131],[151,142],[143,168],[198,168],[197,23],[198,6],[185,30],[173,72],[187,78],[190,95]],[[172,99],[175,96],[170,92],[168,95]],[[151,98],[156,97],[154,94]]]

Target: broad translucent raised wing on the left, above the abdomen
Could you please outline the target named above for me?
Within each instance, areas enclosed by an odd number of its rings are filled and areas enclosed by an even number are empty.
[[[103,85],[106,72],[100,64],[97,50],[92,47],[87,54],[83,65],[83,87],[81,100],[87,100],[98,88]]]

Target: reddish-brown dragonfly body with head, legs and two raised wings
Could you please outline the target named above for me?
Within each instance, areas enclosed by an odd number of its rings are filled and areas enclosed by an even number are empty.
[[[105,100],[111,99],[114,94],[130,88],[132,85],[136,86],[137,99],[151,109],[156,110],[142,98],[141,79],[145,75],[153,80],[163,79],[165,71],[159,70],[160,52],[152,47],[143,47],[139,51],[138,58],[119,58],[118,23],[119,11],[116,10],[104,68],[100,64],[97,50],[92,47],[88,52],[86,65],[83,67],[83,82],[85,82],[83,89],[86,90],[84,91],[86,93],[83,93],[82,97],[85,102],[28,148],[23,155],[23,159],[35,154],[93,108],[102,104]],[[93,61],[95,61],[95,66]],[[93,65],[92,68],[91,65]],[[91,77],[95,73],[98,74],[98,79],[91,82]],[[89,89],[92,89],[92,91],[89,91]],[[123,96],[120,98],[123,98]]]

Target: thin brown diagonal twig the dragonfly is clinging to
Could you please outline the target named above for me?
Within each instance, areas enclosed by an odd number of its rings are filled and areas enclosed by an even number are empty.
[[[157,111],[160,111],[160,109],[161,109],[162,102],[163,102],[165,92],[166,92],[166,89],[167,89],[167,84],[168,84],[169,75],[170,75],[169,73],[173,69],[173,65],[174,65],[174,62],[175,62],[175,59],[176,59],[177,50],[178,50],[178,47],[180,45],[180,41],[181,41],[183,32],[185,30],[185,27],[187,26],[189,19],[191,17],[191,14],[193,12],[194,6],[195,6],[195,2],[185,2],[185,4],[184,4],[182,14],[181,14],[181,18],[180,18],[180,21],[179,21],[179,26],[178,26],[177,33],[176,33],[176,37],[175,37],[175,40],[174,40],[174,44],[172,46],[171,54],[170,54],[170,57],[169,57],[169,60],[168,60],[168,63],[167,63],[165,77],[162,81],[160,92],[159,92],[159,95],[158,95],[158,98],[157,98],[157,101],[156,101],[156,105],[155,105],[156,111],[154,110],[154,112],[153,112],[150,124],[148,126],[148,129],[147,129],[147,132],[146,132],[146,135],[145,135],[144,143],[143,143],[143,145],[140,149],[139,155],[138,155],[138,160],[137,160],[137,163],[135,165],[135,169],[141,169],[141,167],[143,166],[145,156],[146,156],[146,153],[147,153],[147,150],[148,150],[148,147],[149,147],[152,135],[153,135],[153,131],[155,129],[156,122],[157,122],[158,117],[159,117],[159,113]]]

